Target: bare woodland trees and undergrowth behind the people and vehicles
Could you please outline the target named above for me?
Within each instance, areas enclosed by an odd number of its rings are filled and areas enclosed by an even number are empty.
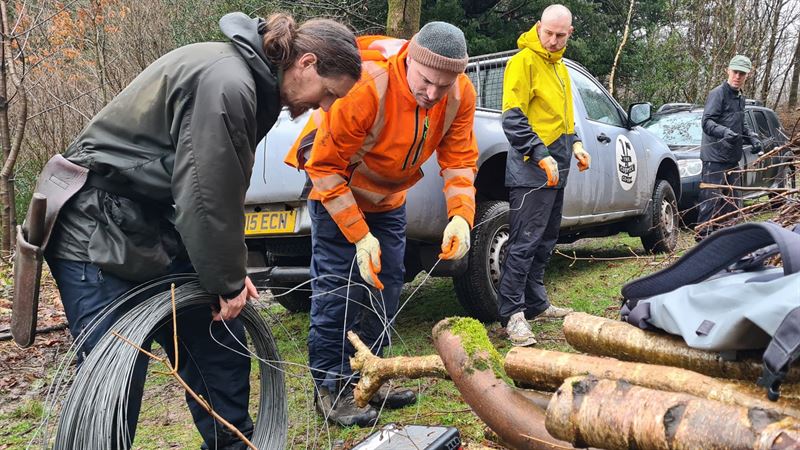
[[[230,11],[298,21],[325,16],[358,34],[408,37],[420,23],[461,27],[470,55],[516,48],[549,0],[0,0],[0,170],[3,255],[42,165],[159,56],[222,39]],[[779,111],[797,107],[798,0],[565,0],[575,34],[566,56],[623,105],[702,103],[735,53],[754,63],[744,87]],[[388,30],[387,30],[388,24]],[[792,124],[784,124],[790,127]]]

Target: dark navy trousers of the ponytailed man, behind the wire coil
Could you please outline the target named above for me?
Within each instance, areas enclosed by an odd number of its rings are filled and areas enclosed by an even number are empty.
[[[76,339],[93,324],[94,319],[107,305],[137,285],[103,273],[99,267],[88,262],[49,258],[47,263],[61,294],[69,331]],[[193,269],[190,266],[185,266],[176,267],[173,273],[191,271]],[[118,309],[110,320],[100,323],[98,329],[88,336],[85,345],[80,349],[78,363],[80,364],[91,352],[113,322],[143,300],[145,299],[132,301]],[[247,342],[244,324],[236,318],[228,321],[227,325],[233,335],[222,322],[212,322],[211,309],[206,306],[182,312],[178,316],[178,345],[181,347],[178,372],[196,393],[211,403],[217,413],[249,436],[253,432],[253,422],[248,412],[250,359],[215,342],[216,339],[229,348],[240,347],[237,340]],[[209,334],[209,330],[213,337]],[[167,356],[174,362],[172,322],[169,321],[156,331],[153,339],[164,348]],[[145,349],[150,349],[150,342],[145,344]],[[128,436],[131,442],[126,442],[123,448],[130,447],[136,434],[148,361],[149,358],[145,355],[141,355],[136,361],[127,409]],[[195,426],[203,437],[203,448],[216,450],[246,448],[238,437],[214,420],[188,393],[186,403]]]

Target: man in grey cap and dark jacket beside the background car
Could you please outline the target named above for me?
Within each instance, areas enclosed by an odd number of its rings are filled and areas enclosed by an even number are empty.
[[[750,141],[756,149],[762,148],[761,141],[744,120],[745,97],[741,88],[752,67],[746,56],[734,56],[728,64],[728,79],[708,94],[703,109],[703,141],[700,149],[702,183],[737,186],[739,174],[727,172],[738,167],[742,158],[742,139]],[[705,238],[720,226],[705,222],[737,208],[738,200],[733,198],[732,188],[701,189],[696,239]]]

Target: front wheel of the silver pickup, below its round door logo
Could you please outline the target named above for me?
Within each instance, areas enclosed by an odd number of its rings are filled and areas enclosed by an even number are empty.
[[[678,202],[667,180],[656,180],[653,189],[652,226],[642,235],[642,245],[650,253],[670,253],[678,245]]]

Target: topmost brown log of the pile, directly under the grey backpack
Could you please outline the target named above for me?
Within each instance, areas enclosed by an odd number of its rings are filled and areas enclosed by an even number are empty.
[[[755,382],[760,360],[725,361],[719,353],[690,348],[680,336],[644,331],[618,320],[585,313],[564,319],[564,336],[576,350],[623,361],[681,367],[712,377]],[[786,383],[800,381],[800,368],[789,370]]]

